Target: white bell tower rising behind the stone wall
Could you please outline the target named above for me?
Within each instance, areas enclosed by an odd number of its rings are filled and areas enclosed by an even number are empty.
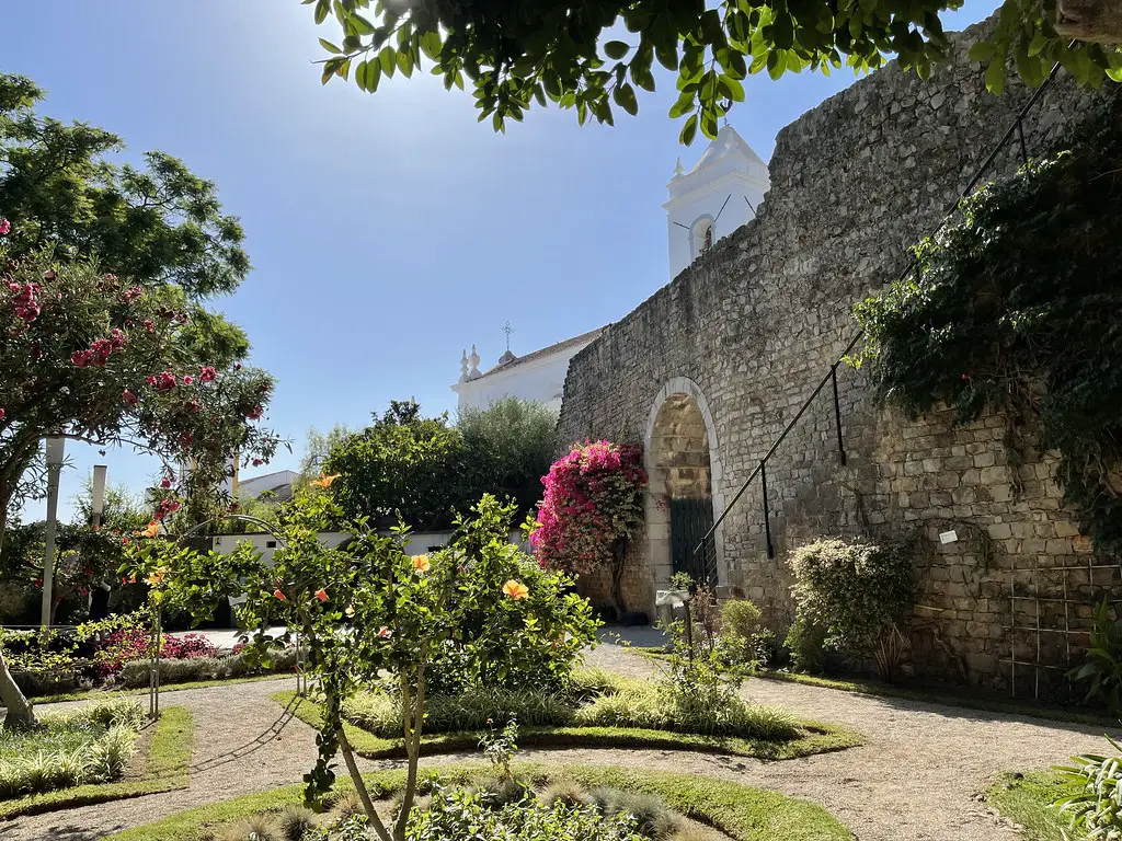
[[[721,237],[754,219],[771,186],[767,165],[732,126],[717,132],[689,172],[681,158],[666,185],[670,277],[673,279]]]

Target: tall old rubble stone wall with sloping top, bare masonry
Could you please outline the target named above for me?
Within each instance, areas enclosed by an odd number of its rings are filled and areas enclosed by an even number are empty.
[[[660,388],[688,378],[712,415],[710,446],[723,463],[714,495],[730,499],[855,334],[853,304],[894,279],[1030,95],[1017,83],[1002,96],[985,92],[985,68],[966,49],[987,26],[955,36],[953,56],[929,81],[889,65],[780,131],[757,219],[573,358],[559,445],[620,431],[643,441]],[[1059,80],[1024,124],[1030,154],[1051,149],[1105,96]],[[1010,173],[1019,163],[1014,144],[996,168]],[[781,630],[792,613],[783,560],[792,546],[820,535],[919,534],[914,668],[1006,685],[1013,674],[1001,660],[1011,650],[1037,656],[1036,636],[1006,630],[1034,610],[1026,602],[1014,611],[1012,585],[1047,595],[1070,584],[1088,602],[1103,585],[1094,572],[1085,583],[1045,572],[1088,558],[1061,508],[1055,461],[1012,466],[1000,417],[956,427],[941,413],[910,423],[872,405],[862,373],[840,368],[838,380],[848,463],[839,464],[827,389],[767,465],[776,558],[764,551],[757,482],[723,526],[728,582]],[[950,529],[960,539],[940,544],[938,534]],[[628,590],[652,612],[665,575],[647,569],[647,552],[643,539],[632,547]],[[597,582],[585,586],[603,599]],[[1086,617],[1074,614],[1085,612],[1072,608],[1069,627],[1082,627]],[[1039,646],[1051,665],[1080,641],[1058,639]],[[1037,674],[1055,681],[1060,672],[1022,667],[1015,677],[1026,686]]]

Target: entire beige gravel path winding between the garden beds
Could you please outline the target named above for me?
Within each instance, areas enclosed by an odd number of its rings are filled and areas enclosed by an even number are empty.
[[[635,676],[659,668],[615,645],[594,651],[589,665]],[[269,694],[286,686],[269,681],[183,690],[165,694],[163,703],[186,706],[194,715],[197,765],[252,742],[280,713]],[[1002,770],[1043,768],[1103,745],[1095,728],[778,681],[749,681],[745,695],[852,727],[867,745],[779,763],[665,750],[525,750],[518,757],[662,768],[773,788],[822,804],[861,841],[1012,841],[1018,833],[977,800],[987,782]],[[314,755],[314,732],[293,720],[252,752],[194,771],[186,791],[16,819],[0,823],[0,841],[91,841],[192,806],[297,783]],[[465,754],[424,761],[478,758]]]

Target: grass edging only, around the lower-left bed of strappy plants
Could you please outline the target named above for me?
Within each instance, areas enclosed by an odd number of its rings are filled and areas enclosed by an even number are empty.
[[[116,783],[56,788],[53,792],[0,801],[0,820],[186,788],[191,782],[188,766],[194,729],[194,720],[186,709],[168,706],[156,721],[142,776]]]

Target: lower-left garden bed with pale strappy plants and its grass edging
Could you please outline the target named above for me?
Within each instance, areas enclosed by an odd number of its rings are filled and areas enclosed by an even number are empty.
[[[119,711],[130,706],[128,719]],[[117,710],[117,719],[110,718]],[[136,702],[102,702],[44,715],[42,728],[6,733],[0,747],[0,819],[185,788],[193,722],[171,706],[145,726]]]

